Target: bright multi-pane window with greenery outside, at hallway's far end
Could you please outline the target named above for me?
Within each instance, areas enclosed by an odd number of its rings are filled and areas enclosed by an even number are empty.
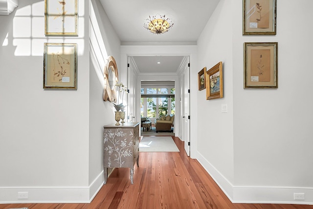
[[[159,118],[175,114],[175,88],[141,88],[140,115]]]

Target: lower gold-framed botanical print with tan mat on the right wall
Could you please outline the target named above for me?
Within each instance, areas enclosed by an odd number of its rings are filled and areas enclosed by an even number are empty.
[[[244,88],[278,88],[278,43],[244,43]]]

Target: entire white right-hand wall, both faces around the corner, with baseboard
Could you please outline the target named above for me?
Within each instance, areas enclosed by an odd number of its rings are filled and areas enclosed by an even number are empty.
[[[312,6],[278,0],[277,35],[243,36],[242,1],[221,0],[198,41],[201,67],[224,62],[224,98],[198,93],[199,160],[233,202],[313,204]],[[278,89],[243,88],[244,42],[278,42]]]

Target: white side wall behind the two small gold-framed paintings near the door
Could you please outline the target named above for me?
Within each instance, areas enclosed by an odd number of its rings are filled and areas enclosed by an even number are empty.
[[[228,0],[221,0],[198,40],[198,73],[223,62],[224,98],[206,100],[206,90],[198,91],[198,152],[200,162],[233,182],[233,92],[232,13]],[[222,104],[227,113],[221,112]],[[209,169],[210,168],[210,169]]]

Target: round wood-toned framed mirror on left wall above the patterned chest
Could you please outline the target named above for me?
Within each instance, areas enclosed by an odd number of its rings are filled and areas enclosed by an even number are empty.
[[[118,81],[118,71],[115,59],[112,56],[108,57],[108,61],[104,68],[104,91],[103,100],[116,102],[115,84]]]

